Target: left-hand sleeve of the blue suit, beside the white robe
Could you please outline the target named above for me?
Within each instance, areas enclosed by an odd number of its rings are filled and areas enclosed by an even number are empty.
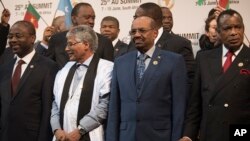
[[[106,130],[106,141],[119,140],[119,124],[120,124],[120,92],[117,81],[117,66],[114,65],[113,77],[111,81],[111,95],[108,111],[108,123]]]

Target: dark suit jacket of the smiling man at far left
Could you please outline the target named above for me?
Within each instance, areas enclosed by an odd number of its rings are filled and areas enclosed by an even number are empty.
[[[49,141],[52,139],[49,119],[57,65],[35,54],[12,97],[11,77],[15,61],[12,59],[0,66],[0,140]]]

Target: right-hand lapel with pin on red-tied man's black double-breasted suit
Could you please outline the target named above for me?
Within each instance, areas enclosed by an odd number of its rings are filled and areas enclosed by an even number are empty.
[[[227,84],[232,83],[232,80],[240,74],[240,69],[242,68],[239,64],[244,64],[245,66],[249,65],[249,60],[247,58],[248,53],[248,48],[244,45],[240,53],[234,59],[232,65],[221,75],[221,77],[219,77],[214,94],[217,94],[218,91],[224,88]]]

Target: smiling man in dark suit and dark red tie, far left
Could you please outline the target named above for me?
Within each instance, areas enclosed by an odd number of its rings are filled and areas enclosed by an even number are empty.
[[[8,39],[16,57],[0,66],[0,140],[51,140],[49,119],[57,65],[35,53],[32,23],[16,22]]]

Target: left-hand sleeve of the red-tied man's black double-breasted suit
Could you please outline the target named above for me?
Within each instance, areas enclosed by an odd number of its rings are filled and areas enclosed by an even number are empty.
[[[200,57],[197,55],[196,74],[187,108],[183,136],[196,140],[202,116]]]

